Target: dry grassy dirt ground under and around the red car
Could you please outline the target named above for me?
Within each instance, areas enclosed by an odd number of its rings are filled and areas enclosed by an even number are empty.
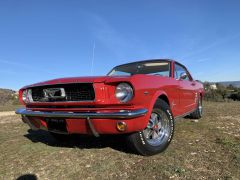
[[[240,179],[240,103],[204,105],[201,120],[176,120],[169,148],[151,157],[133,154],[119,136],[58,143],[1,112],[0,178]]]

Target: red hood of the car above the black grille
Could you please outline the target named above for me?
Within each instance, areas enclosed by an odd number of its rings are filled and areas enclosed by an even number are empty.
[[[36,86],[46,86],[46,85],[54,85],[54,84],[68,84],[68,83],[113,83],[118,81],[129,81],[131,79],[130,76],[89,76],[89,77],[69,77],[69,78],[59,78],[53,79],[49,81],[44,81],[32,85],[28,85],[23,87],[30,88]]]

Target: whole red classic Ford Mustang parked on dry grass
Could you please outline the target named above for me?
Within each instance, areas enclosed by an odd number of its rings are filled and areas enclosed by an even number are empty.
[[[166,149],[174,119],[202,116],[203,85],[182,64],[146,60],[113,68],[107,76],[63,78],[20,89],[18,109],[33,130],[57,140],[68,134],[126,134],[139,154]]]

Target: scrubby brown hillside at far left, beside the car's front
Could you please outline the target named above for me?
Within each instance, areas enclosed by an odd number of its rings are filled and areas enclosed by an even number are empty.
[[[16,91],[11,89],[2,89],[0,88],[0,106],[7,106],[7,105],[17,105],[18,102],[18,95]]]

